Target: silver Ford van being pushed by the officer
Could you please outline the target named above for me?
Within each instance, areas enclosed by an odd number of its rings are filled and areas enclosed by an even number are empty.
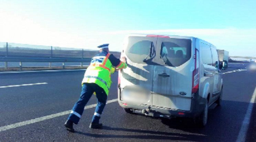
[[[129,35],[118,74],[118,103],[127,113],[153,117],[190,117],[205,126],[208,108],[222,100],[216,47],[186,36]],[[133,98],[133,99],[129,99]]]

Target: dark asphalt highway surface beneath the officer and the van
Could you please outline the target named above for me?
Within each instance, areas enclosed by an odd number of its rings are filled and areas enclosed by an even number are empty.
[[[256,87],[256,73],[244,69],[246,63],[230,63],[223,74],[221,107],[209,110],[206,127],[196,127],[191,119],[158,119],[127,114],[115,101],[106,105],[101,130],[89,129],[95,107],[85,109],[75,133],[63,124],[81,92],[84,71],[0,73],[0,142],[63,142],[63,141],[188,141],[235,142],[244,121],[247,107]],[[234,71],[235,70],[235,71]],[[117,98],[117,73],[108,100]],[[2,87],[33,83],[29,86]],[[92,96],[88,105],[96,104]],[[255,109],[253,110],[255,114]],[[49,118],[49,115],[55,115]],[[47,116],[47,119],[45,116]],[[33,120],[38,120],[33,122]],[[29,121],[27,121],[29,120]],[[247,141],[254,141],[256,115],[252,115]],[[21,123],[18,123],[21,122]],[[16,125],[12,125],[18,123]],[[20,125],[23,126],[20,126]],[[8,130],[1,128],[7,128]]]

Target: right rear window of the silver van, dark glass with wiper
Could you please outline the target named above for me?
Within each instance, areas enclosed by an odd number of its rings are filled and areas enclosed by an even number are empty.
[[[161,43],[161,59],[171,67],[181,66],[191,58],[191,40],[170,38]]]

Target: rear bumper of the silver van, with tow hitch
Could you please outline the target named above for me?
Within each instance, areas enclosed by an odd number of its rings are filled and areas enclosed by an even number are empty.
[[[194,98],[191,98],[191,109],[190,111],[184,111],[184,110],[174,110],[174,109],[167,109],[167,108],[160,108],[155,107],[151,105],[134,105],[134,104],[128,104],[126,102],[123,102],[120,99],[120,94],[118,91],[118,103],[122,108],[129,108],[133,113],[139,113],[144,114],[146,116],[152,116],[152,117],[163,117],[163,118],[172,118],[172,117],[189,117],[189,118],[195,118],[199,116],[203,109],[204,104],[206,103],[206,99],[202,98],[198,95],[198,93],[195,94]],[[125,105],[124,105],[125,103]]]

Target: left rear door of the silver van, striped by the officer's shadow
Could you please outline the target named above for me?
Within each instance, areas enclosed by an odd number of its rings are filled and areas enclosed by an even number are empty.
[[[149,100],[141,104],[152,105],[152,82],[154,70],[154,57],[156,56],[156,37],[129,36],[124,45],[127,57],[127,68],[121,70],[120,87],[121,94],[133,94],[145,92]],[[140,91],[138,91],[138,89]],[[139,95],[139,94],[138,94]],[[121,95],[122,96],[122,95]]]

